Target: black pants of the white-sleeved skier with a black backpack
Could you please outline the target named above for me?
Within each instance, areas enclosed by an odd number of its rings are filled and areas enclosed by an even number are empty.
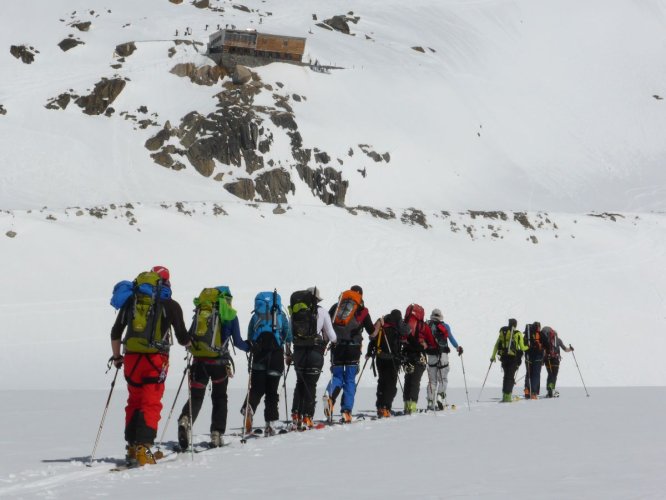
[[[313,417],[317,397],[317,381],[324,366],[322,346],[294,346],[296,388],[291,406],[292,413]]]

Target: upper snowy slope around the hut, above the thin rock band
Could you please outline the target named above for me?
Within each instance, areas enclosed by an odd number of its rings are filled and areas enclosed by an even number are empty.
[[[205,43],[218,25],[233,25],[306,36],[306,61],[344,68],[259,68],[273,90],[264,89],[257,103],[272,94],[289,99],[304,147],[326,152],[329,166],[350,182],[349,205],[664,209],[660,0],[242,5],[251,12],[215,0],[215,10],[167,0],[4,2],[0,208],[232,198],[191,165],[165,171],[143,144],[167,120],[176,124],[190,111],[216,107],[219,84],[198,86],[169,73],[177,63],[210,63],[201,46],[179,45],[169,54],[174,39]],[[317,26],[348,12],[358,17],[351,35]],[[72,26],[87,21],[88,31]],[[183,36],[186,27],[191,36]],[[57,44],[70,35],[84,44],[63,52]],[[137,50],[120,64],[114,49],[129,41]],[[9,53],[22,44],[39,51],[32,64]],[[126,87],[111,117],[84,115],[74,104],[45,108],[69,89],[84,95],[114,75]],[[141,106],[145,116],[137,113]],[[141,118],[156,125],[141,129]],[[269,132],[276,135],[270,158],[295,183],[290,201],[307,201],[309,189],[290,170],[288,143],[270,123]],[[389,153],[390,162],[376,163],[360,144]],[[219,163],[216,172],[225,173],[225,182],[247,177]]]

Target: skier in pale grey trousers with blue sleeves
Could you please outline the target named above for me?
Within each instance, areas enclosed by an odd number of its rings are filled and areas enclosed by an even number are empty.
[[[444,409],[446,401],[446,387],[449,383],[449,340],[458,352],[463,353],[462,346],[458,345],[453,337],[451,327],[444,323],[444,315],[439,309],[433,309],[430,313],[428,326],[432,332],[432,344],[426,348],[428,361],[428,410]]]

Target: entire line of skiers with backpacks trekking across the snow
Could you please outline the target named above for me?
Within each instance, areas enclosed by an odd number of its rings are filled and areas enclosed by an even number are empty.
[[[291,426],[299,430],[314,426],[316,387],[327,352],[330,352],[331,379],[324,394],[324,414],[331,419],[339,400],[342,422],[350,422],[363,331],[370,340],[365,363],[372,359],[378,374],[376,408],[379,417],[392,415],[400,370],[405,372],[402,386],[405,413],[417,410],[424,373],[428,374],[428,409],[444,408],[449,343],[459,356],[462,356],[463,348],[458,345],[451,327],[444,322],[441,310],[434,309],[426,320],[423,307],[410,304],[404,316],[400,310],[394,309],[373,322],[363,302],[363,289],[358,285],[341,293],[328,310],[320,302],[322,297],[316,287],[297,291],[290,296],[287,313],[276,290],[260,292],[255,297],[247,335],[243,339],[238,314],[233,308],[233,295],[227,286],[201,291],[194,299],[194,315],[188,329],[181,306],[171,298],[170,273],[166,267],[155,266],[140,273],[134,281],[118,283],[111,299],[111,304],[119,312],[111,329],[113,355],[109,362],[117,369],[124,367],[128,386],[125,409],[128,463],[144,465],[160,458],[159,452],[153,454],[151,446],[157,436],[162,410],[171,331],[191,355],[191,362],[188,356],[190,397],[178,417],[178,441],[183,449],[191,443],[192,425],[200,412],[209,382],[213,406],[210,445],[219,447],[224,444],[227,387],[235,372],[231,350],[235,348],[248,355],[250,376],[241,408],[245,432],[252,431],[253,416],[262,398],[264,432],[267,435],[276,432],[280,380],[284,378],[286,381],[291,366],[297,379],[292,397]],[[539,374],[544,359],[548,370],[548,394],[554,395],[559,349],[569,351],[573,348],[565,347],[552,328],[542,330],[538,323],[533,323],[528,325],[524,335],[516,325],[516,320],[511,319],[509,326],[500,330],[491,361],[492,366],[497,355],[502,361],[504,400],[511,400],[515,372],[524,351],[527,351],[529,371],[526,397],[539,393]],[[124,354],[121,354],[122,345]],[[546,347],[549,345],[555,350],[549,350]],[[551,355],[551,352],[555,354]],[[283,386],[286,405],[284,382]]]

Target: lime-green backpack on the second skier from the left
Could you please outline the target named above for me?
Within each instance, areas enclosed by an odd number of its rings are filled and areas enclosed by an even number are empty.
[[[217,358],[228,352],[226,343],[222,343],[222,328],[236,317],[236,311],[227,302],[230,296],[228,287],[217,287],[204,288],[194,298],[189,351],[195,358]]]

